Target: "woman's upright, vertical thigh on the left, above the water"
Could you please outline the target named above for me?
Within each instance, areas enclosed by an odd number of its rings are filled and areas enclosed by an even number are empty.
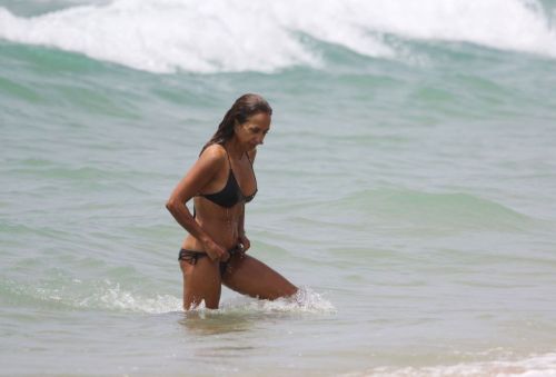
[[[179,265],[183,275],[183,309],[193,309],[203,300],[207,308],[218,309],[221,291],[218,262],[203,257],[195,265],[185,260]]]

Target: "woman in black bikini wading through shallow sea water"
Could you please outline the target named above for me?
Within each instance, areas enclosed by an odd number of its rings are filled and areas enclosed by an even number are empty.
[[[271,115],[262,97],[238,98],[166,205],[189,232],[179,252],[186,310],[201,301],[217,309],[222,282],[261,299],[297,292],[281,275],[245,254],[250,247],[244,229],[245,204],[257,194],[252,162]],[[193,215],[186,207],[191,198]]]

